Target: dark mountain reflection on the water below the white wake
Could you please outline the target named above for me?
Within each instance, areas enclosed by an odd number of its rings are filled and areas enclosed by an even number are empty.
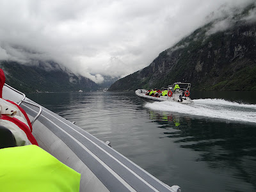
[[[175,139],[173,142],[180,147],[200,152],[195,161],[207,162],[209,168],[232,173],[232,178],[244,180],[243,188],[248,191],[256,189],[254,124],[221,122],[161,111],[149,113],[159,128],[164,129],[164,136],[160,138]],[[240,189],[241,186],[234,188]]]

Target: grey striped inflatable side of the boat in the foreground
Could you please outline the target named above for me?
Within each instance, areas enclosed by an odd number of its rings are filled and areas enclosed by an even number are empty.
[[[81,173],[80,191],[176,191],[150,175],[108,143],[30,100],[8,84],[3,99],[19,104],[33,125],[39,147]]]

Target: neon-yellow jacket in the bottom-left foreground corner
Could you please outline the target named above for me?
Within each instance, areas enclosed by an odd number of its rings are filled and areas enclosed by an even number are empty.
[[[79,192],[80,177],[36,145],[0,149],[0,191]]]

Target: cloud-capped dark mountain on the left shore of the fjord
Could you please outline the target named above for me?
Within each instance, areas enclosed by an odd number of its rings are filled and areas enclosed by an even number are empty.
[[[77,76],[54,62],[21,65],[15,61],[0,61],[6,83],[20,92],[78,92],[95,91],[99,86],[92,80]]]

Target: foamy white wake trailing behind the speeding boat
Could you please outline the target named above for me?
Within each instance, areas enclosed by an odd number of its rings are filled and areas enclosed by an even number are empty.
[[[195,99],[193,101],[191,104],[153,102],[145,104],[145,107],[158,111],[256,123],[256,105],[254,104],[239,104],[223,99]]]

